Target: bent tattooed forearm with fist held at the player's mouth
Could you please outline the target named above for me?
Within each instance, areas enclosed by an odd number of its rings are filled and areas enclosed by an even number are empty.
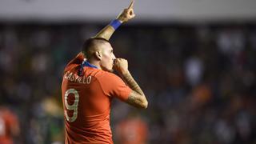
[[[118,74],[120,74],[122,79],[132,90],[128,99],[126,100],[126,103],[138,108],[146,109],[148,105],[146,96],[140,86],[138,86],[138,83],[130,74],[130,71],[128,70],[128,62],[126,61],[126,59],[116,58],[114,60],[114,70],[116,70]]]

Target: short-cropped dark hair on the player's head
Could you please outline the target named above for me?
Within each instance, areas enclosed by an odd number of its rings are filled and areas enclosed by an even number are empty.
[[[102,50],[102,45],[106,42],[109,43],[109,41],[104,38],[89,38],[82,46],[82,53],[87,59],[90,59],[96,51]]]

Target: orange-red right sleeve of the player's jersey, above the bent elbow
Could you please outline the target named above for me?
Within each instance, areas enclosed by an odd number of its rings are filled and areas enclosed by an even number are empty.
[[[130,87],[126,86],[126,83],[115,74],[103,74],[102,77],[99,78],[99,81],[101,83],[103,92],[109,97],[126,101],[130,95]]]

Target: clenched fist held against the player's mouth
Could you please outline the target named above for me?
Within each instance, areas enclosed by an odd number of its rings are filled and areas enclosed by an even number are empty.
[[[115,58],[113,68],[119,74],[126,74],[128,72],[128,62],[124,58]]]

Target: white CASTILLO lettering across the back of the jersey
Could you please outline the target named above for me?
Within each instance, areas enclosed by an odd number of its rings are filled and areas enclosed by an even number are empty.
[[[78,74],[73,74],[70,71],[67,71],[66,74],[64,74],[64,78],[66,78],[70,82],[83,83],[83,84],[90,84],[90,81],[91,81],[91,76],[79,77]]]

